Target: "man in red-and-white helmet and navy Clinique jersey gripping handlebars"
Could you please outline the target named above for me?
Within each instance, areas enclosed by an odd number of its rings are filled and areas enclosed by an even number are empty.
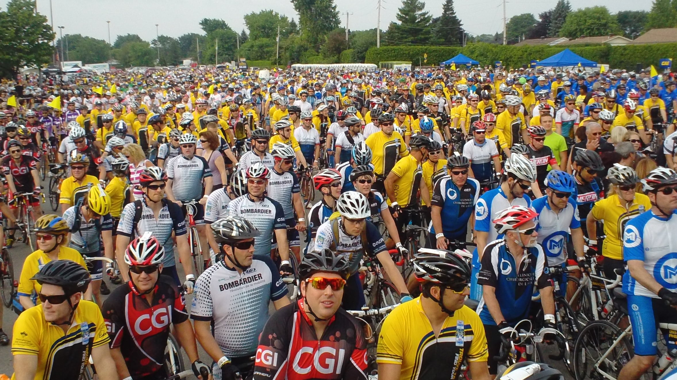
[[[517,156],[517,155],[513,155]],[[496,375],[501,343],[515,332],[515,325],[530,315],[532,306],[544,313],[544,327],[554,325],[554,299],[548,275],[548,259],[538,244],[538,214],[524,206],[510,206],[498,213],[494,228],[502,239],[487,245],[482,256],[479,285],[484,288],[477,306],[487,334],[489,374]],[[541,305],[532,304],[531,295],[538,289]]]

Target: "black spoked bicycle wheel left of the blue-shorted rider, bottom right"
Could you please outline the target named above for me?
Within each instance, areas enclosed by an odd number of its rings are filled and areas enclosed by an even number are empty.
[[[618,339],[621,332],[621,329],[606,320],[588,323],[573,347],[576,380],[604,379],[603,373],[618,377],[621,368],[634,356],[630,339]]]

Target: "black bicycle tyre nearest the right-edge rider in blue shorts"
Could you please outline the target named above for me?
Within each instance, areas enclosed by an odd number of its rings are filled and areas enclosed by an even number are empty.
[[[581,331],[580,335],[576,339],[576,343],[573,346],[573,372],[576,380],[584,379],[597,379],[603,377],[602,375],[595,375],[590,377],[590,367],[591,363],[594,363],[594,357],[590,356],[588,358],[588,353],[597,352],[601,354],[606,352],[609,347],[613,346],[615,341],[618,340],[619,335],[622,333],[621,329],[617,326],[607,322],[606,320],[594,320]],[[608,346],[606,344],[608,343]],[[625,348],[625,350],[624,350]],[[632,349],[632,344],[628,337],[623,337],[619,344],[612,350],[613,363],[621,364],[617,368],[609,368],[615,373],[613,377],[618,376],[618,371],[620,368],[627,364],[628,361],[634,356],[634,350]],[[621,362],[619,362],[621,360]],[[603,364],[609,364],[609,360],[605,360]],[[603,369],[605,372],[609,372],[609,369],[606,367]]]

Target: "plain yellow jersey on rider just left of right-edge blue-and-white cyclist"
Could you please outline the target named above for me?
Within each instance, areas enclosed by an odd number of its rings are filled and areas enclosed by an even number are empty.
[[[604,233],[607,237],[602,245],[602,256],[623,260],[623,230],[628,220],[651,208],[647,195],[635,193],[635,199],[629,208],[621,206],[618,194],[600,199],[592,206],[592,216],[604,222]]]

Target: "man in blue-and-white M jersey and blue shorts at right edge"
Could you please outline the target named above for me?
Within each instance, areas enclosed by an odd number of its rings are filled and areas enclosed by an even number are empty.
[[[651,370],[656,360],[657,331],[663,323],[677,323],[677,174],[672,169],[656,168],[642,179],[649,195],[651,210],[628,221],[623,235],[623,258],[628,271],[623,275],[623,292],[628,294],[628,312],[632,325],[634,356],[618,374],[619,379],[639,379]],[[668,352],[677,344],[661,327]]]

